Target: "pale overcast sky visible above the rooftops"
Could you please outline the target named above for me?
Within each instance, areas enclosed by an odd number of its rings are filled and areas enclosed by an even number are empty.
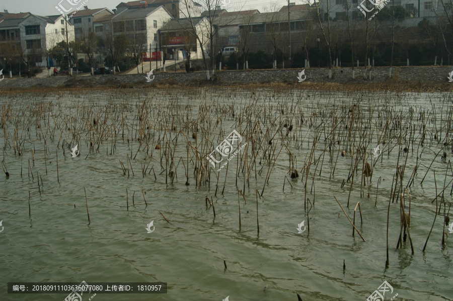
[[[60,3],[61,0],[0,0],[0,10],[8,10],[9,13],[24,13],[30,12],[36,15],[41,16],[50,16],[50,15],[58,15],[58,11],[55,9]],[[64,7],[69,8],[67,0],[63,0],[62,5]],[[73,1],[73,3],[83,3],[83,1],[78,0],[69,0]],[[84,0],[88,1],[86,5],[89,9],[97,9],[97,8],[108,8],[110,10],[114,9],[118,4],[121,2],[128,2],[121,1],[121,0]],[[199,0],[196,2],[202,3],[203,1],[207,0]],[[215,1],[215,0],[214,0]],[[228,3],[228,0],[224,0],[225,3]],[[306,3],[303,0],[290,0],[289,2],[295,4],[304,4]],[[285,0],[231,0],[231,3],[225,7],[227,11],[239,11],[239,10],[253,10],[257,9],[260,12],[265,12],[266,8],[269,8],[271,5],[276,4],[277,7],[280,9],[282,6],[287,5],[287,1]],[[80,4],[79,4],[80,5]],[[77,6],[76,6],[77,7]]]

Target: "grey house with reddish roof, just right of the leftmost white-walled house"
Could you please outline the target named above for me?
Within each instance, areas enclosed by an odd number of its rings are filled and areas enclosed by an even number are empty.
[[[94,24],[96,22],[103,20],[106,16],[114,15],[114,13],[107,8],[90,10],[87,6],[85,6],[83,10],[75,12],[75,15],[69,19],[69,22],[74,26],[76,41],[87,39],[88,33],[95,32]]]

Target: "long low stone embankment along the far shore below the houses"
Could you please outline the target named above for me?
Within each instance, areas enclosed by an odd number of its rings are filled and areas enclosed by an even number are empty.
[[[214,81],[206,81],[205,71],[198,72],[154,72],[154,80],[146,82],[146,74],[117,74],[105,76],[58,76],[50,78],[5,78],[0,82],[1,90],[44,88],[146,88],[172,86],[230,86],[230,85],[269,85],[284,84],[294,88],[337,87],[335,89],[391,89],[404,87],[415,91],[453,91],[453,83],[448,82],[451,66],[394,67],[389,78],[388,67],[373,67],[366,71],[364,67],[333,68],[332,79],[328,78],[326,68],[305,69],[304,82],[298,82],[299,69],[266,70],[221,70],[216,71]],[[151,77],[153,79],[153,77]],[[304,79],[304,76],[301,77]]]

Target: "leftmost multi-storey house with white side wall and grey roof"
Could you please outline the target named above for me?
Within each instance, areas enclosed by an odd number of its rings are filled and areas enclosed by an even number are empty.
[[[47,50],[66,41],[66,37],[68,41],[73,41],[74,30],[72,25],[66,26],[62,15],[0,13],[0,57],[16,57],[44,67],[47,65]],[[7,47],[8,45],[12,47]],[[6,49],[15,51],[7,53]]]

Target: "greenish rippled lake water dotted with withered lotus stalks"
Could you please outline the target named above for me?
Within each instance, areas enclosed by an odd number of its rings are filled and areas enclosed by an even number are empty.
[[[443,228],[443,206],[422,252],[436,212],[436,202],[431,203],[436,189],[440,193],[453,178],[451,142],[446,160],[442,152],[436,157],[451,136],[451,94],[106,90],[4,94],[0,105],[2,160],[10,175],[0,177],[0,300],[63,300],[67,294],[7,293],[7,282],[59,281],[168,283],[167,294],[97,294],[96,301],[220,301],[227,296],[229,301],[296,301],[296,292],[303,300],[365,300],[384,281],[393,288],[385,300],[397,293],[395,300],[453,299],[453,237],[445,236],[442,247],[442,232],[449,232]],[[392,130],[385,130],[386,124]],[[411,126],[416,127],[412,136]],[[233,130],[247,145],[228,171],[217,172],[216,164],[210,174],[194,172],[200,160],[203,168],[212,167],[205,158]],[[374,158],[378,143],[381,152]],[[75,144],[81,155],[72,158]],[[362,145],[366,154],[357,157]],[[417,154],[415,188],[409,188],[414,255],[409,239],[396,249],[400,200],[395,197],[386,269],[392,179],[399,161],[406,167],[405,187]],[[215,158],[225,162],[228,157]],[[348,176],[356,158],[347,207]],[[373,166],[362,193],[361,158]],[[289,173],[292,163],[299,174],[295,179]],[[310,231],[304,207],[309,164]],[[263,191],[258,201],[257,190]],[[451,200],[450,191],[451,183],[445,201]],[[355,224],[365,241],[357,233],[352,236],[334,196],[351,220],[360,203],[362,223],[357,210]],[[212,197],[215,217],[206,197]],[[408,212],[407,194],[405,205]],[[151,221],[155,231],[147,233]],[[298,233],[303,221],[304,231]],[[85,295],[88,300],[90,294]]]

